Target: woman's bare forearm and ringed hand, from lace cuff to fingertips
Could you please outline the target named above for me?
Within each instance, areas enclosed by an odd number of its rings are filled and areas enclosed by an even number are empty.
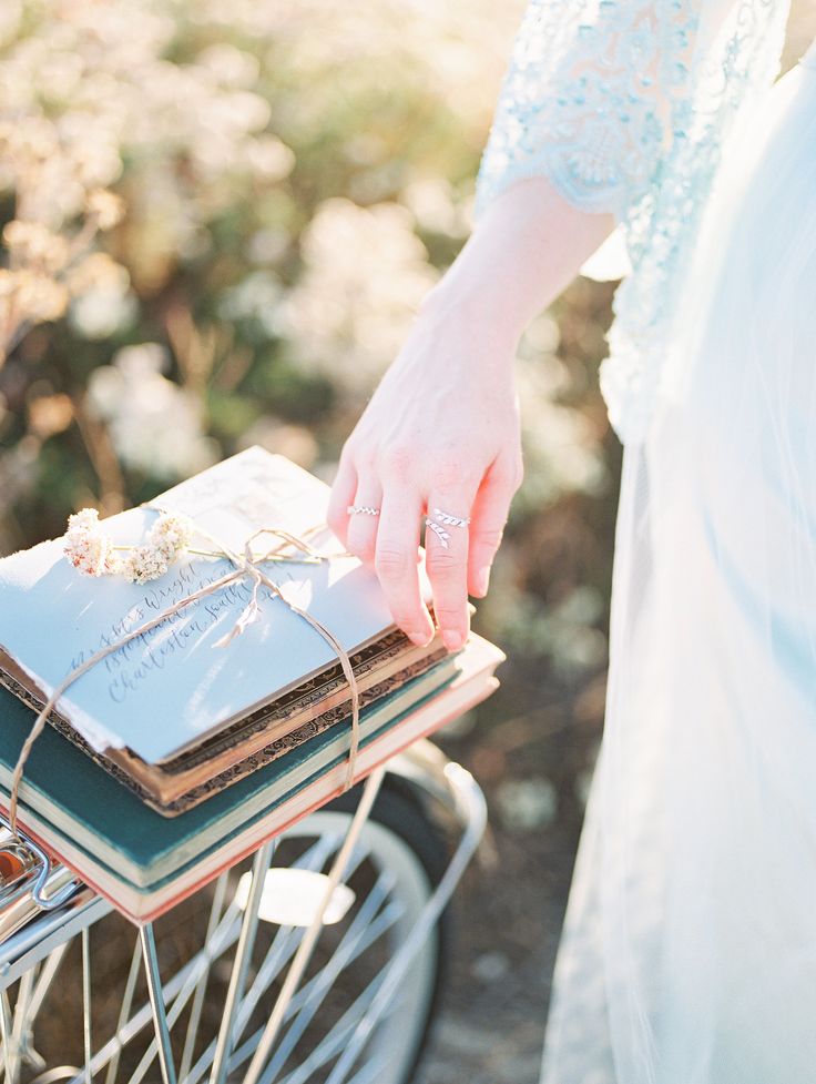
[[[532,316],[574,278],[614,226],[580,211],[544,176],[513,181],[420,307],[340,454],[328,524],[373,564],[394,620],[417,644],[434,635],[417,564],[419,519],[441,508],[445,548],[428,528],[426,569],[445,644],[468,635],[468,592],[482,596],[522,479],[513,359]],[[349,516],[348,505],[379,516]]]

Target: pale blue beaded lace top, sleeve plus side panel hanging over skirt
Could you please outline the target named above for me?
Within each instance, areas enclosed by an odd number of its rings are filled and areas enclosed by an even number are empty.
[[[599,375],[623,443],[647,429],[723,146],[778,73],[788,9],[788,0],[528,0],[475,219],[536,175],[580,210],[614,215],[631,270]]]

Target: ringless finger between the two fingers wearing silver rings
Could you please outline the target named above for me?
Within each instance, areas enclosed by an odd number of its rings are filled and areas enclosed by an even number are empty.
[[[428,644],[434,621],[419,589],[419,519],[422,502],[416,487],[385,482],[374,566],[391,616],[415,644]]]

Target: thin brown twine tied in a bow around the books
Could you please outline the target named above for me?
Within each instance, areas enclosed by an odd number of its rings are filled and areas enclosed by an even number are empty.
[[[146,503],[142,507],[152,508],[156,511],[169,510],[162,508],[159,505],[151,504],[151,503]],[[57,686],[57,688],[53,690],[51,696],[48,698],[47,702],[43,705],[37,719],[34,720],[31,731],[26,738],[22,749],[20,750],[20,756],[18,757],[17,764],[14,766],[14,772],[11,777],[11,796],[9,800],[9,823],[11,825],[12,832],[17,833],[17,809],[19,802],[19,790],[20,790],[20,783],[22,781],[22,773],[26,767],[26,761],[29,758],[29,753],[31,752],[32,746],[34,744],[39,736],[42,733],[45,723],[48,721],[49,715],[53,710],[57,701],[65,692],[65,690],[70,688],[70,686],[72,686],[78,678],[81,678],[83,673],[86,673],[92,667],[96,666],[98,662],[106,658],[106,656],[112,655],[114,651],[118,651],[121,647],[124,647],[131,640],[136,639],[136,637],[142,636],[144,632],[149,632],[151,629],[155,628],[166,618],[173,617],[174,614],[177,614],[181,609],[183,609],[185,606],[188,606],[191,602],[195,602],[200,598],[204,598],[207,595],[212,595],[215,591],[220,591],[223,587],[226,587],[227,585],[234,582],[235,580],[241,579],[242,576],[249,576],[251,579],[253,580],[253,591],[252,591],[252,597],[249,599],[249,602],[238,615],[232,629],[230,629],[228,632],[226,632],[218,640],[216,640],[213,644],[213,647],[218,647],[218,648],[226,647],[226,645],[230,644],[236,636],[239,636],[249,625],[254,624],[261,618],[261,607],[258,605],[258,591],[262,585],[264,587],[267,587],[273,592],[273,595],[277,596],[277,598],[280,598],[284,602],[286,602],[286,605],[289,607],[290,610],[293,610],[299,617],[303,617],[305,620],[307,620],[309,625],[314,629],[316,629],[320,634],[320,636],[324,637],[324,639],[328,640],[328,642],[332,645],[332,647],[334,648],[334,650],[336,651],[340,660],[343,672],[345,673],[351,690],[351,740],[348,750],[346,779],[343,784],[343,790],[344,791],[348,790],[354,783],[354,773],[357,763],[357,752],[359,749],[359,739],[360,739],[359,689],[357,685],[357,678],[355,677],[354,670],[351,668],[351,660],[348,657],[348,652],[337,640],[337,638],[333,635],[333,632],[329,629],[327,629],[325,625],[318,621],[316,617],[313,617],[306,610],[300,609],[300,607],[296,606],[295,602],[289,601],[284,596],[284,594],[282,592],[277,584],[273,579],[271,579],[266,575],[266,573],[264,573],[258,567],[258,565],[262,565],[264,561],[267,560],[284,560],[284,561],[293,561],[296,564],[303,564],[303,563],[317,564],[322,560],[330,560],[336,557],[354,557],[355,556],[354,554],[350,554],[346,550],[343,550],[341,553],[338,554],[322,554],[319,553],[319,550],[315,549],[306,540],[307,536],[314,535],[315,533],[319,533],[326,529],[326,527],[327,525],[323,523],[315,524],[312,527],[307,527],[306,530],[304,530],[303,535],[300,536],[294,535],[290,531],[283,529],[282,527],[261,527],[246,539],[246,541],[244,543],[243,554],[237,554],[234,550],[232,550],[228,546],[225,546],[217,538],[215,538],[215,536],[212,535],[208,530],[204,529],[203,527],[196,524],[196,530],[200,534],[204,535],[206,538],[208,538],[214,544],[214,546],[218,549],[218,554],[214,556],[227,557],[235,567],[231,573],[221,576],[212,584],[206,584],[204,587],[198,588],[198,590],[193,591],[191,595],[187,595],[185,598],[180,599],[177,602],[173,602],[166,609],[162,610],[161,614],[151,617],[149,620],[144,621],[137,628],[131,629],[130,632],[126,632],[119,640],[105,645],[105,647],[103,648],[100,648],[99,651],[94,652],[94,655],[85,659],[84,662],[82,662],[79,667],[73,669],[68,675],[68,677],[62,682],[60,682],[60,685]],[[277,546],[263,554],[254,554],[252,549],[252,544],[255,541],[256,538],[259,538],[263,535],[277,535],[279,538],[283,539],[283,541],[279,541]],[[279,551],[286,546],[294,546],[297,549],[300,549],[306,556],[295,557],[292,555],[280,555]]]

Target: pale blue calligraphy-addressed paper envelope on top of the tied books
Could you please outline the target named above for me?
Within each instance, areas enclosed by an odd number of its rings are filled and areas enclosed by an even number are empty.
[[[151,505],[186,514],[243,553],[259,527],[298,535],[324,523],[329,493],[285,456],[252,447]],[[133,508],[102,526],[118,545],[140,544],[157,515]],[[261,553],[275,541],[258,538],[254,549]],[[319,553],[343,550],[327,527],[310,541]],[[193,546],[212,548],[197,534]],[[226,558],[186,555],[163,577],[140,586],[115,576],[84,576],[62,547],[55,538],[0,560],[0,648],[49,695],[101,647],[233,568]],[[420,589],[430,602],[424,551],[420,556]],[[325,625],[347,652],[395,628],[376,573],[356,557],[318,565],[269,561],[263,568],[284,597]],[[118,648],[67,690],[60,713],[94,749],[126,746],[156,763],[337,661],[332,645],[266,587],[258,596],[261,620],[225,647],[214,647],[251,594],[252,581],[243,576]]]

